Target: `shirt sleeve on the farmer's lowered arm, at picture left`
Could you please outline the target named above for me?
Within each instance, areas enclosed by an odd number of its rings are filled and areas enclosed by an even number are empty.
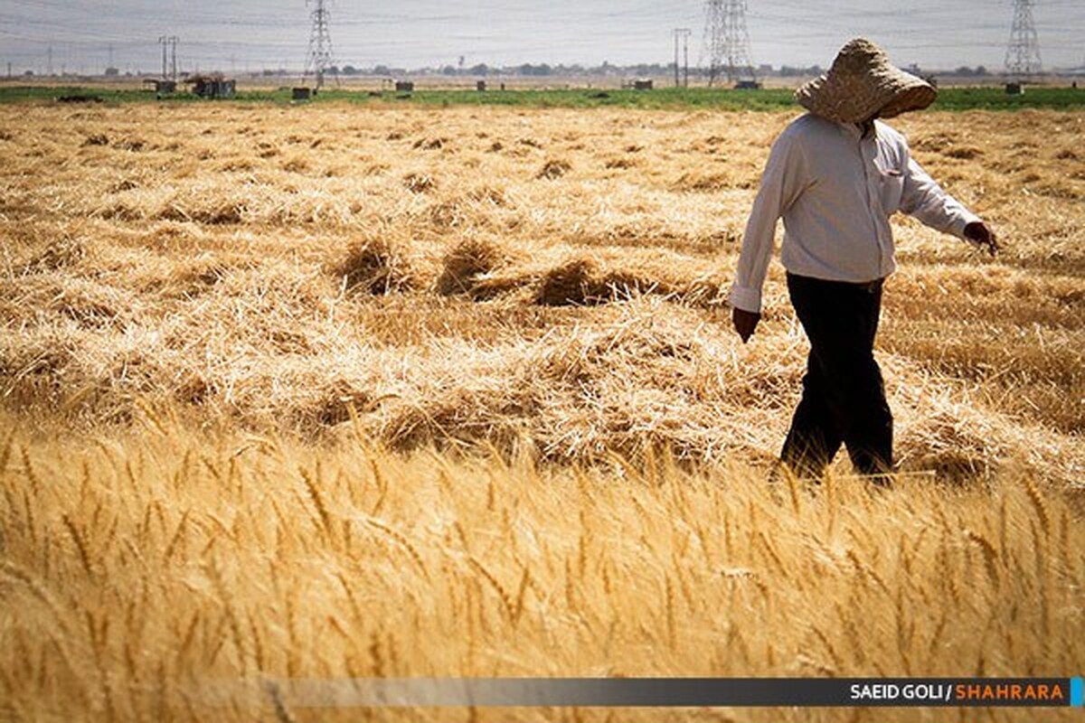
[[[792,134],[784,132],[768,154],[761,189],[750,211],[729,295],[731,306],[761,312],[761,289],[773,257],[776,221],[805,188],[805,173],[802,147]]]

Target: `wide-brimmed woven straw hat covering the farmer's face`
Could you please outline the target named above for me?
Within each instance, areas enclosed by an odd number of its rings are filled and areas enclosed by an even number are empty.
[[[866,38],[851,40],[827,74],[795,91],[800,105],[837,122],[920,111],[936,95],[929,82],[893,66],[885,51]]]

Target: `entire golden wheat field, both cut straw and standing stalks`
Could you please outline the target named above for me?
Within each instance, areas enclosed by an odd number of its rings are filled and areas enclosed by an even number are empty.
[[[778,267],[729,331],[791,117],[0,107],[0,715],[865,720],[202,682],[1080,672],[1085,114],[894,122],[1006,248],[894,221],[880,493],[768,481]]]

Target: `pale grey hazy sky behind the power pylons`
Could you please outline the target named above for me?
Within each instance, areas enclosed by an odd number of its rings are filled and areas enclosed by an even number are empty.
[[[692,29],[690,64],[701,61],[702,0],[329,0],[334,56],[371,67],[519,65],[603,61],[668,63],[672,30]],[[305,0],[0,0],[0,73],[52,68],[100,73],[161,67],[157,38],[180,38],[182,70],[224,72],[305,64],[312,5]],[[1011,0],[749,0],[753,61],[828,66],[847,39],[869,37],[898,65],[1001,69]],[[1085,0],[1036,0],[1045,68],[1085,65]]]

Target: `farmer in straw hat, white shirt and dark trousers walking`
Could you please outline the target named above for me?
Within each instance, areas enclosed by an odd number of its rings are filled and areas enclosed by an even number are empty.
[[[936,91],[890,64],[873,42],[841,49],[829,72],[796,92],[809,113],[780,134],[750,212],[730,292],[735,331],[749,340],[783,217],[780,260],[809,338],[803,398],[781,460],[818,478],[843,443],[856,470],[888,481],[893,416],[873,358],[882,284],[893,273],[897,210],[998,250],[995,234],[911,159],[904,137],[876,118],[930,105]]]

